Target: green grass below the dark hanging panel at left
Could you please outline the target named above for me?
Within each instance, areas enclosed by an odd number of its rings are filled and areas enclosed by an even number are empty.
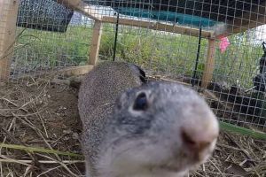
[[[19,28],[18,34],[22,30]],[[56,66],[60,61],[79,65],[89,56],[90,36],[88,27],[69,27],[66,33],[27,29],[18,39],[15,56],[20,58],[20,65],[46,62]]]

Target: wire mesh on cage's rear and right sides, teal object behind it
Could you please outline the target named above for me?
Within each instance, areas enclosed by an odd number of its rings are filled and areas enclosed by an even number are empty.
[[[197,89],[206,87],[205,96],[220,119],[264,129],[264,1],[86,3],[113,9],[113,19],[103,20],[119,24],[116,58]],[[230,47],[224,51],[226,43]]]

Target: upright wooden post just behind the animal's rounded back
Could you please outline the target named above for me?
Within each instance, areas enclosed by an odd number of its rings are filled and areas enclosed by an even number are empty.
[[[94,22],[92,39],[90,43],[89,65],[96,65],[98,62],[98,50],[101,41],[103,24],[100,21]]]

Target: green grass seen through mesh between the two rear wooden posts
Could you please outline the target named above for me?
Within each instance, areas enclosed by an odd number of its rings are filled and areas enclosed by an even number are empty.
[[[126,30],[124,30],[126,31]],[[150,31],[129,31],[120,34],[117,45],[117,58],[122,58],[138,65],[175,74],[192,74],[197,56],[198,39],[192,36],[155,35]],[[102,36],[100,54],[112,58],[113,31],[106,31]],[[203,47],[206,42],[202,42]],[[106,52],[107,51],[107,52]],[[112,50],[113,51],[113,50]],[[200,53],[201,58],[204,55]],[[200,59],[202,62],[202,59]]]

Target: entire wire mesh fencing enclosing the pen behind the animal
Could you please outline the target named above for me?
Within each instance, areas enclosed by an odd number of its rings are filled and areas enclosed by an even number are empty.
[[[16,1],[0,2],[4,28]],[[74,2],[80,2],[75,9]],[[103,27],[99,61],[133,62],[150,78],[192,86],[219,119],[265,131],[265,2],[20,0],[9,80],[87,65],[93,16]],[[0,30],[1,36],[7,33]],[[211,80],[203,89],[206,72]]]

